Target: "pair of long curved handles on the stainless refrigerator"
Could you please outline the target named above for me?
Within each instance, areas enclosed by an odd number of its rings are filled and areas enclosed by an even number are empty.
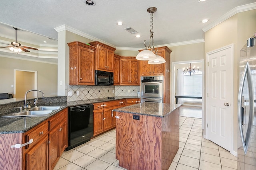
[[[244,89],[244,82],[245,82],[246,76],[247,76],[247,82],[248,82],[248,88],[249,88],[249,122],[248,122],[248,129],[246,131],[246,136],[244,139],[244,132],[242,127],[242,92]],[[252,125],[253,125],[253,114],[254,114],[253,82],[252,82],[252,75],[251,75],[249,63],[246,62],[244,67],[244,72],[242,74],[242,80],[239,86],[239,92],[238,92],[238,125],[239,125],[240,137],[242,140],[242,147],[244,149],[245,154],[247,153],[249,143],[250,143],[250,138],[252,135],[251,131],[252,131]]]

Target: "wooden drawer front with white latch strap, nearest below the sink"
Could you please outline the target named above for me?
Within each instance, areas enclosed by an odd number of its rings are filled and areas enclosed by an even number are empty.
[[[48,135],[49,131],[49,124],[48,121],[34,127],[31,131],[28,131],[25,133],[25,142],[28,142],[30,139],[33,139],[33,143],[26,145],[26,149],[28,147],[32,147],[36,144],[37,141],[39,141],[42,137],[45,137]]]

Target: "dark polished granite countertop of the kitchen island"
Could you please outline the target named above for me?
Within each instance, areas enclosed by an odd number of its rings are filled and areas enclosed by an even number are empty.
[[[134,104],[132,106],[126,106],[126,107],[114,109],[114,111],[164,117],[164,116],[170,114],[172,111],[174,111],[178,107],[180,107],[180,104],[144,102],[144,103],[140,103],[140,104]]]

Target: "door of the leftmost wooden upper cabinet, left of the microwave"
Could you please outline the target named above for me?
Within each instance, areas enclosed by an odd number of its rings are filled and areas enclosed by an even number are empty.
[[[78,84],[94,85],[94,51],[79,47]]]

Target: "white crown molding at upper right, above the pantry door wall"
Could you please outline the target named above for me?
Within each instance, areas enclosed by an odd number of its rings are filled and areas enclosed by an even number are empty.
[[[218,18],[216,21],[204,27],[202,30],[206,32],[239,12],[245,12],[245,11],[254,10],[254,9],[256,9],[256,2],[242,5],[242,6],[237,6],[236,8],[232,9],[231,11],[227,12],[226,14]]]

